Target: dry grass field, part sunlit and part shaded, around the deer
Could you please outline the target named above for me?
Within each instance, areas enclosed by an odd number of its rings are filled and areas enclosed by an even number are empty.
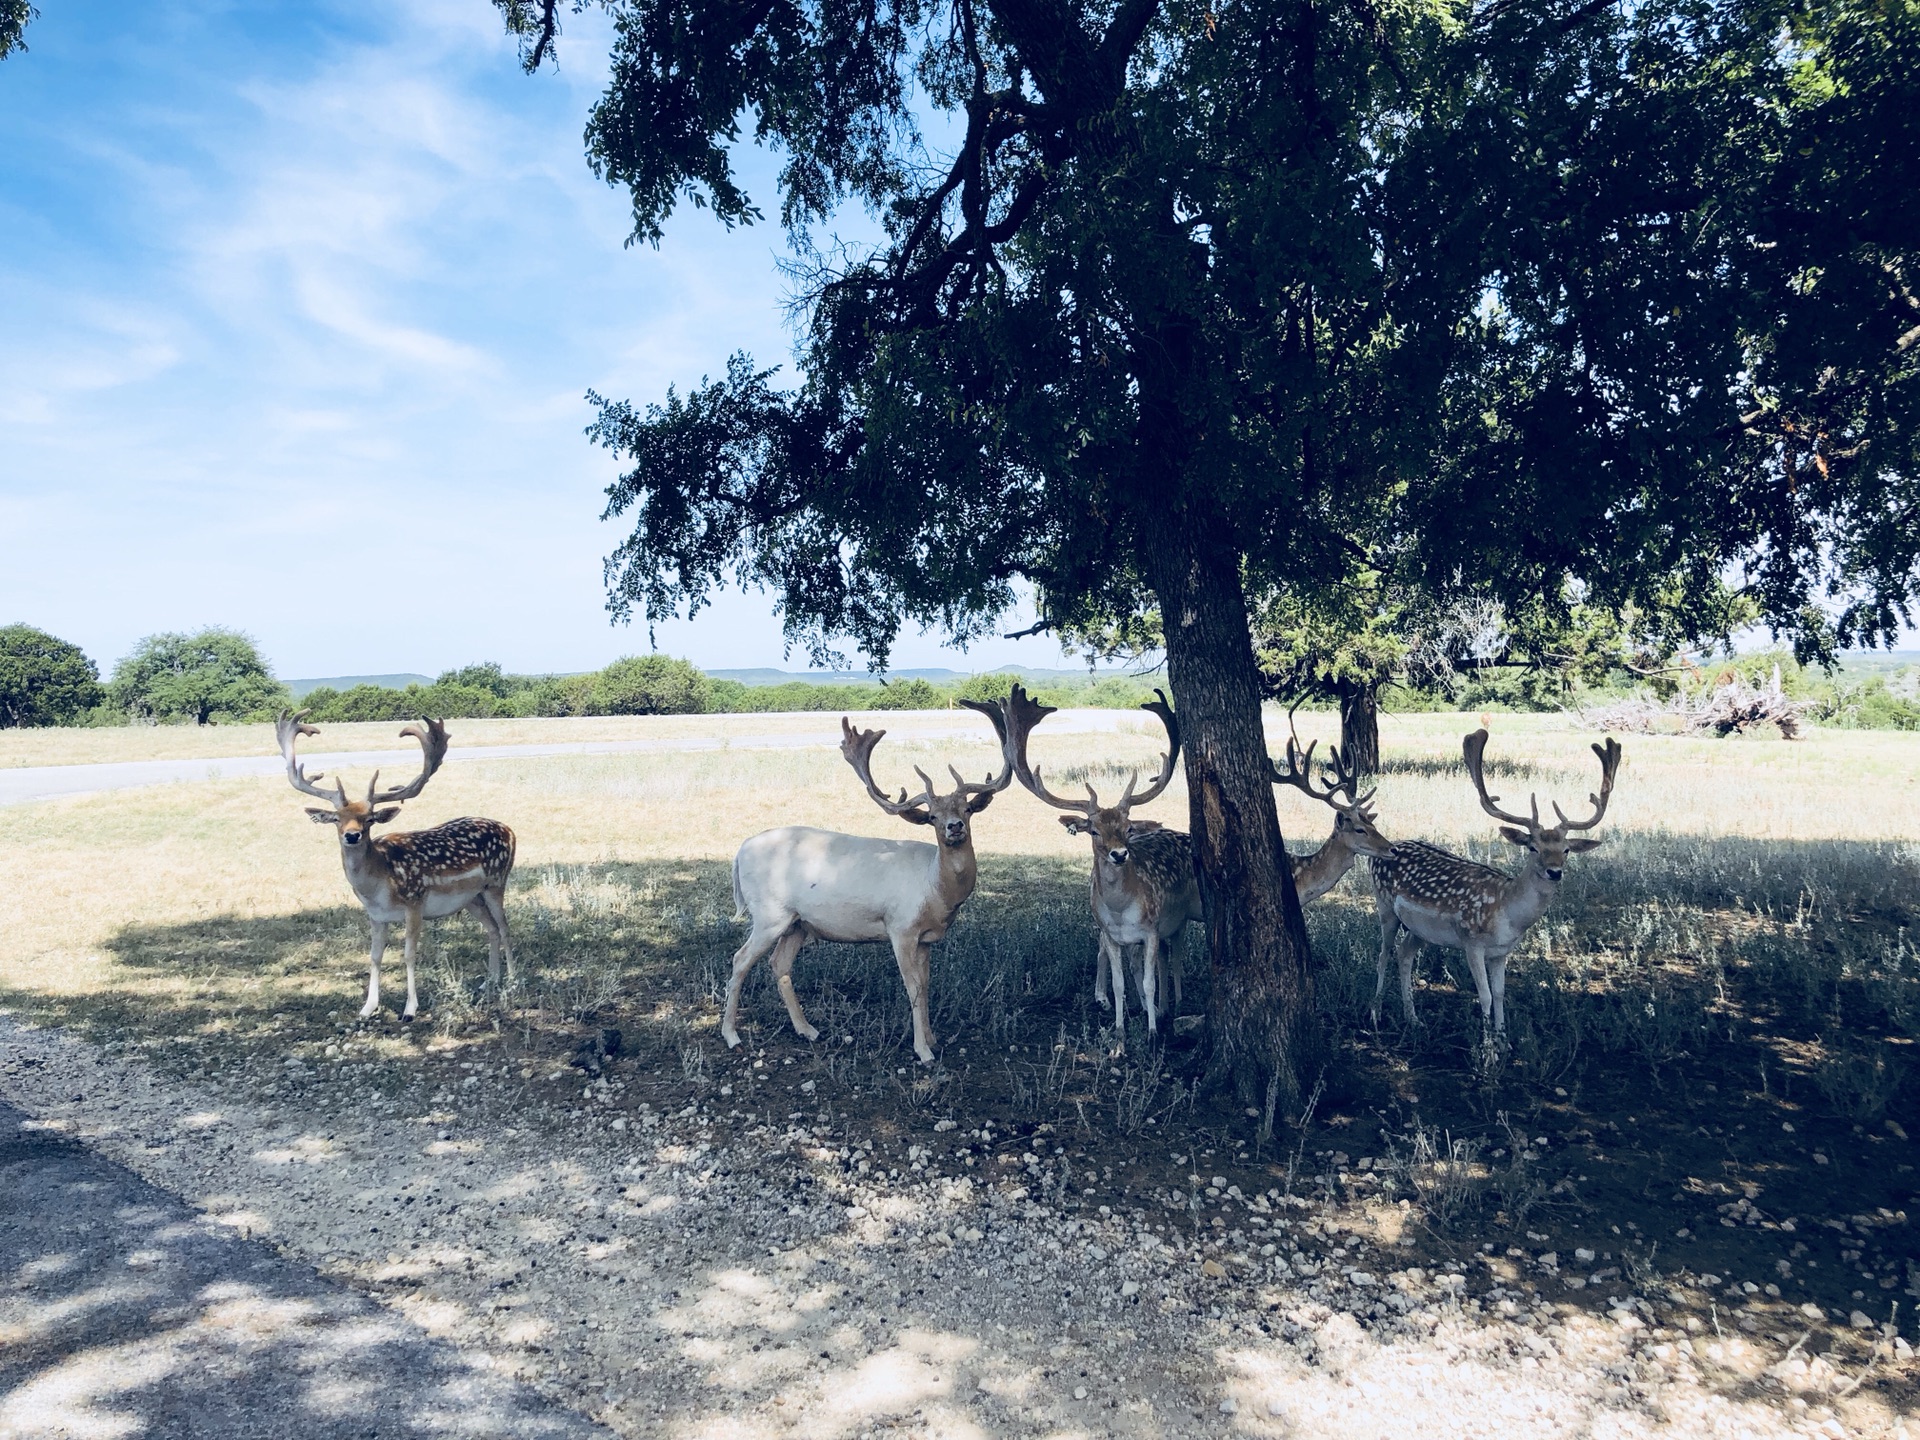
[[[1473,724],[1384,722],[1380,828],[1501,866],[1517,852],[1498,841],[1459,766]],[[586,733],[593,726],[607,733]],[[455,745],[712,726],[463,722]],[[330,728],[321,743],[386,745],[392,726],[369,728],[378,737],[346,730]],[[1496,716],[1492,732],[1492,783],[1509,803],[1540,789],[1542,804],[1555,797],[1572,808],[1594,787],[1586,747],[1596,735],[1569,720]],[[248,751],[232,745],[238,733],[221,732],[221,753]],[[1331,718],[1302,716],[1302,733],[1331,735]],[[140,751],[140,739],[156,749]],[[1056,783],[1091,778],[1117,789],[1129,766],[1152,764],[1154,739],[1150,726],[1043,730],[1035,758]],[[0,764],[179,755],[165,747],[202,737],[75,741],[35,749],[0,735]],[[864,799],[831,749],[447,768],[403,824],[488,814],[518,831],[509,916],[522,987],[501,1012],[482,1006],[478,927],[438,922],[411,1029],[392,1020],[403,991],[396,952],[390,1014],[353,1020],[365,922],[349,906],[332,831],[307,822],[284,781],[15,806],[0,829],[10,877],[0,1004],[100,1054],[255,1100],[286,1104],[278,1077],[290,1062],[346,1073],[353,1060],[376,1075],[367,1094],[399,1112],[451,1087],[482,1052],[503,1056],[499,1073],[518,1069],[530,1092],[547,1085],[564,1098],[580,1085],[566,1058],[616,1027],[622,1081],[599,1104],[622,1114],[732,1106],[770,1125],[818,1114],[839,1135],[899,1140],[902,1156],[910,1133],[941,1135],[941,1164],[962,1175],[987,1175],[1008,1146],[1041,1154],[1041,1137],[1060,1137],[1066,1164],[1012,1171],[1033,1202],[1185,1225],[1196,1256],[1208,1235],[1217,1233],[1206,1244],[1227,1244],[1235,1223],[1217,1194],[1227,1187],[1208,1185],[1219,1173],[1236,1187],[1229,1194],[1311,1202],[1323,1217],[1315,1235],[1365,1235],[1348,1244],[1457,1271],[1490,1321],[1515,1304],[1523,1317],[1526,1306],[1624,1313],[1624,1329],[1645,1329],[1647,1344],[1668,1352],[1690,1336],[1745,1336],[1768,1365],[1788,1367],[1784,1377],[1805,1375],[1809,1359],[1830,1377],[1859,1375],[1841,1405],[1753,1367],[1699,1361],[1709,1388],[1778,1402],[1784,1423],[1891,1432],[1912,1404],[1910,1352],[1901,1342],[1897,1354],[1893,1331],[1880,1327],[1910,1334],[1920,1304],[1907,1223],[1920,1206],[1907,1139],[1920,1096],[1920,958],[1908,933],[1920,906],[1920,737],[1626,737],[1624,749],[1605,845],[1574,860],[1565,893],[1515,956],[1505,1062],[1475,1062],[1478,1014],[1457,956],[1423,958],[1419,1029],[1400,1025],[1392,995],[1382,1027],[1371,1025],[1377,927],[1363,876],[1309,912],[1331,1060],[1304,1123],[1267,1144],[1231,1096],[1198,1085],[1194,1025],[1160,1048],[1135,1020],[1127,1058],[1110,1056],[1114,1037],[1091,996],[1085,841],[1018,789],[977,818],[981,885],[935,950],[939,1066],[912,1064],[900,983],[876,947],[803,952],[797,985],[822,1029],[818,1046],[791,1033],[758,973],[743,1004],[747,1044],[726,1052],[716,996],[743,937],[728,885],[739,841],[787,822],[904,829]],[[889,739],[876,776],[900,783],[914,764],[943,774],[948,760],[983,774],[995,753],[985,735]],[[1290,845],[1321,841],[1323,810],[1286,791],[1281,806]],[[1150,812],[1183,824],[1179,783]],[[1206,964],[1198,935],[1190,943],[1187,1012],[1204,1014]],[[933,1160],[918,1140],[912,1148],[920,1173]]]

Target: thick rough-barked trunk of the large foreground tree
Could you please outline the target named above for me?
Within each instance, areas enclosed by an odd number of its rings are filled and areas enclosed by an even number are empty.
[[[1240,557],[1227,536],[1217,516],[1162,513],[1139,543],[1160,599],[1187,758],[1213,1069],[1233,1079],[1242,1104],[1273,1098],[1294,1114],[1315,1060],[1308,935],[1273,804]]]

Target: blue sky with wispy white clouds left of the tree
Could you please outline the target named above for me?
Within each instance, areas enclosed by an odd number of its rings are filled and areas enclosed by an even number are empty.
[[[647,649],[603,611],[582,396],[791,336],[776,228],[685,211],[622,246],[582,156],[597,21],[530,79],[488,0],[42,6],[0,63],[0,622],[102,668],[230,624],[284,676]],[[659,645],[783,662],[762,595]],[[895,653],[1006,662],[1062,659]]]

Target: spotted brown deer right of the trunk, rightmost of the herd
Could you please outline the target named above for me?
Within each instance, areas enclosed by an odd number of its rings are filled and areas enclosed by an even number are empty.
[[[1373,860],[1373,895],[1380,916],[1380,962],[1373,987],[1373,1020],[1380,1020],[1380,996],[1386,993],[1386,962],[1400,960],[1400,1008],[1413,1021],[1413,956],[1421,945],[1442,945],[1465,950],[1473,985],[1480,993],[1480,1020],[1494,1035],[1507,1029],[1507,956],[1532,927],[1559,889],[1567,872],[1567,856],[1592,851],[1597,839],[1574,835],[1592,829],[1607,814],[1613,797],[1613,778],[1620,768],[1620,743],[1613,737],[1596,745],[1599,756],[1599,793],[1588,795],[1594,814],[1569,820],[1553,806],[1557,826],[1540,824],[1540,797],[1532,797],[1532,814],[1517,816],[1501,810],[1498,795],[1486,793],[1482,760],[1486,732],[1467,735],[1461,751],[1467,774],[1480,793],[1480,808],[1505,824],[1500,833],[1523,847],[1526,866],[1517,876],[1503,876],[1488,866],[1448,854],[1432,845],[1402,841],[1384,860]]]

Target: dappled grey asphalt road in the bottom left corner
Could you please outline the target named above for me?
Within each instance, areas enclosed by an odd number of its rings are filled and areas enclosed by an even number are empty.
[[[0,1104],[0,1436],[611,1440]]]

